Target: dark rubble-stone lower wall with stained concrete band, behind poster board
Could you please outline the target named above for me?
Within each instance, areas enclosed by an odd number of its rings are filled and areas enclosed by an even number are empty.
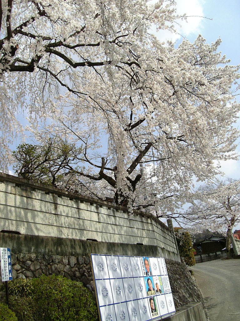
[[[13,279],[54,273],[74,281],[81,281],[92,292],[94,292],[94,282],[90,253],[116,255],[131,253],[136,256],[158,256],[158,247],[153,246],[9,233],[0,233],[0,245],[11,248]],[[203,301],[196,280],[191,276],[186,264],[168,259],[165,259],[165,262],[175,308]]]

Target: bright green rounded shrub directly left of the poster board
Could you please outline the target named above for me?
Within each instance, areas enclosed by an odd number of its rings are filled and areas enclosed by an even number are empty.
[[[33,279],[41,320],[93,321],[98,319],[92,293],[82,283],[62,276],[45,275]]]

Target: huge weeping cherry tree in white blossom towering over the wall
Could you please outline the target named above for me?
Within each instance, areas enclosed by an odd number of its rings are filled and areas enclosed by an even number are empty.
[[[27,108],[36,144],[81,147],[65,170],[84,193],[158,216],[234,157],[239,66],[220,39],[175,48],[151,34],[183,18],[174,1],[9,0],[0,18],[2,155]]]

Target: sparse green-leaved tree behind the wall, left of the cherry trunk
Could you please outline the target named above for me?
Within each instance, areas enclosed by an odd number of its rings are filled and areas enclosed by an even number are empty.
[[[76,162],[81,147],[67,141],[48,138],[43,144],[20,144],[13,156],[13,170],[18,176],[53,187],[71,189],[76,177]]]

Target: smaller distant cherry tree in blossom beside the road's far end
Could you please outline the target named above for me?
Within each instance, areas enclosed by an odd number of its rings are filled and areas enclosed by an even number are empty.
[[[185,219],[227,231],[226,249],[230,258],[232,230],[240,222],[240,181],[211,181],[200,187],[193,195]]]

